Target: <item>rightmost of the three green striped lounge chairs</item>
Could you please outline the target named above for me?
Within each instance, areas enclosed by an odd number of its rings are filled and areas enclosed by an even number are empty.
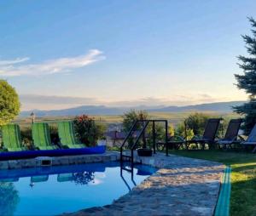
[[[63,148],[75,149],[84,148],[85,145],[79,144],[75,138],[73,122],[58,122],[58,134]]]

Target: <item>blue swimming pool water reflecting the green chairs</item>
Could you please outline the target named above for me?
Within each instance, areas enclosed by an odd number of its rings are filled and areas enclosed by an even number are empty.
[[[0,171],[0,215],[55,215],[110,204],[140,184],[155,168],[119,162]]]

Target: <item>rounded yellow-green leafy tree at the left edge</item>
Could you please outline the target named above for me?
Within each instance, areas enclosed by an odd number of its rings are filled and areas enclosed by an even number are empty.
[[[5,80],[0,80],[0,126],[13,120],[20,113],[20,100]]]

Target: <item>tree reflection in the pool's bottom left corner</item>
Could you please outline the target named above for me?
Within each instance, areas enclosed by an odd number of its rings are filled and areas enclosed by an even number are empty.
[[[0,182],[0,215],[13,215],[19,200],[18,190],[15,190],[13,183]]]

